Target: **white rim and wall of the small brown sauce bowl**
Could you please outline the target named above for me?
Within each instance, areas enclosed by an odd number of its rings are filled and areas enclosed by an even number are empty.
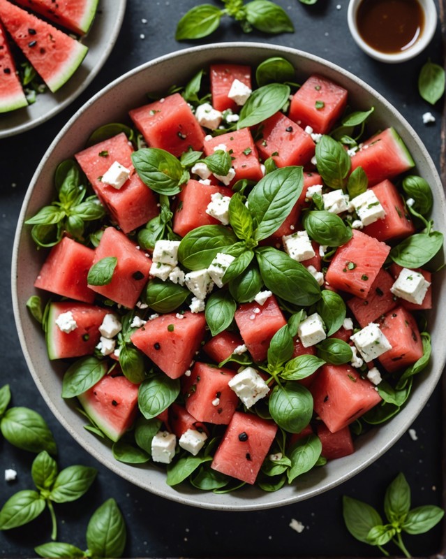
[[[413,43],[413,45],[411,45],[408,49],[392,53],[381,52],[380,50],[372,48],[359,35],[357,28],[357,10],[362,1],[363,0],[350,0],[350,3],[348,4],[347,21],[352,37],[355,39],[359,48],[364,50],[366,55],[369,55],[381,62],[396,64],[416,57],[431,42],[437,27],[437,8],[434,0],[418,0],[419,5],[424,12],[424,27],[422,29],[422,33],[419,38],[417,38],[417,41],[415,41],[415,43]]]

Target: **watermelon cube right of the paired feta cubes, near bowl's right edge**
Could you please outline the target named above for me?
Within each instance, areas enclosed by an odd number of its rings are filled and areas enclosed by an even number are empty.
[[[415,233],[415,227],[404,208],[395,185],[383,180],[371,189],[385,210],[385,217],[364,227],[363,232],[378,240],[399,239]]]

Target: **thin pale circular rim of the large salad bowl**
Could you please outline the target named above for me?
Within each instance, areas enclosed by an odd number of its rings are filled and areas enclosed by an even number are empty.
[[[226,501],[223,502],[223,500],[221,500],[221,502],[208,502],[206,500],[206,496],[208,495],[207,492],[201,492],[198,494],[193,493],[192,495],[190,495],[188,494],[187,491],[186,492],[175,491],[175,488],[172,489],[169,486],[167,486],[167,484],[165,483],[162,486],[159,486],[159,484],[158,485],[149,484],[149,486],[147,486],[147,483],[143,483],[142,481],[140,481],[140,478],[138,477],[138,472],[140,470],[138,470],[137,467],[135,466],[128,467],[128,465],[124,463],[119,463],[114,458],[110,460],[110,458],[107,458],[107,456],[104,456],[103,453],[101,452],[101,447],[103,447],[103,445],[101,444],[98,445],[98,442],[96,440],[94,440],[92,444],[91,438],[89,439],[87,437],[80,437],[79,433],[75,432],[75,429],[73,428],[73,426],[70,425],[67,416],[65,416],[63,412],[59,411],[56,403],[54,403],[53,400],[50,398],[50,396],[47,394],[45,387],[43,386],[43,383],[40,381],[36,373],[36,370],[34,370],[33,359],[31,357],[31,354],[27,346],[27,340],[24,334],[24,328],[20,319],[20,309],[22,305],[19,304],[20,294],[17,290],[17,271],[18,271],[17,268],[19,265],[20,245],[22,242],[22,238],[24,238],[25,236],[23,233],[24,220],[29,205],[29,201],[31,200],[31,197],[33,195],[34,187],[36,187],[38,178],[40,177],[40,173],[42,172],[43,168],[45,168],[48,159],[50,159],[54,147],[59,143],[61,138],[63,138],[64,135],[69,131],[69,129],[71,128],[71,126],[73,126],[73,124],[77,121],[77,119],[81,117],[82,114],[89,109],[89,107],[94,105],[94,103],[96,103],[96,101],[98,101],[98,99],[100,99],[101,96],[107,94],[107,92],[110,92],[116,85],[119,85],[121,82],[125,82],[126,80],[131,78],[133,75],[136,75],[137,73],[147,71],[147,69],[151,68],[151,66],[162,64],[165,61],[176,59],[177,57],[182,57],[182,56],[188,57],[194,55],[194,53],[199,52],[200,50],[207,50],[209,51],[209,54],[214,54],[215,52],[214,59],[224,59],[225,50],[233,50],[233,49],[242,49],[242,50],[249,49],[249,50],[257,50],[258,52],[265,51],[265,57],[270,57],[274,55],[286,56],[287,54],[289,54],[290,56],[300,57],[309,62],[322,64],[322,66],[328,68],[330,71],[334,71],[338,75],[341,74],[343,78],[347,78],[348,80],[351,80],[359,88],[361,88],[362,91],[365,91],[367,94],[373,96],[373,98],[379,101],[380,103],[382,103],[382,105],[384,105],[385,108],[387,108],[387,110],[391,111],[392,114],[394,114],[397,117],[397,119],[401,123],[401,126],[405,127],[405,132],[408,133],[413,138],[415,138],[415,141],[417,143],[417,149],[420,150],[422,157],[424,158],[424,161],[427,161],[428,163],[431,164],[431,167],[433,169],[432,170],[433,175],[436,178],[436,182],[438,183],[437,186],[439,185],[441,187],[440,177],[438,175],[438,171],[436,169],[435,164],[433,164],[433,161],[429,153],[427,152],[426,147],[419,139],[417,133],[412,128],[412,126],[410,126],[410,124],[407,122],[407,120],[381,94],[376,92],[375,89],[367,85],[360,78],[357,78],[357,76],[353,75],[349,71],[344,70],[340,66],[337,66],[332,62],[325,61],[325,59],[322,59],[321,57],[311,55],[308,52],[304,52],[302,50],[297,50],[295,48],[290,48],[290,47],[284,47],[282,45],[269,45],[267,43],[255,43],[255,42],[245,43],[245,42],[233,41],[233,42],[223,43],[223,45],[218,43],[209,43],[207,45],[200,45],[196,47],[186,48],[183,50],[177,50],[167,55],[163,55],[161,57],[152,59],[151,61],[147,61],[146,63],[141,64],[136,68],[133,68],[131,71],[124,73],[119,78],[110,82],[109,85],[101,89],[101,91],[97,92],[94,96],[92,96],[91,99],[89,99],[89,101],[84,103],[84,105],[79,110],[77,110],[77,112],[75,112],[75,114],[68,120],[68,122],[61,129],[61,131],[59,131],[56,138],[54,138],[54,140],[48,147],[47,151],[45,152],[43,159],[40,161],[40,164],[38,165],[38,168],[36,169],[36,172],[34,173],[31,179],[30,187],[27,191],[26,196],[24,197],[24,201],[22,203],[22,209],[20,210],[20,216],[17,221],[17,228],[15,231],[15,238],[13,244],[11,289],[12,289],[12,297],[13,297],[13,312],[15,317],[17,333],[19,335],[20,345],[22,347],[22,351],[25,360],[27,362],[29,371],[31,372],[31,376],[33,377],[34,382],[38,387],[38,390],[40,391],[40,395],[42,395],[47,406],[50,407],[50,410],[57,418],[59,423],[61,423],[61,425],[64,426],[64,428],[66,428],[68,433],[70,433],[70,435],[77,441],[78,444],[80,444],[84,448],[84,450],[86,450],[88,453],[94,456],[94,458],[96,458],[96,460],[98,460],[100,463],[105,465],[105,467],[107,467],[108,470],[111,470],[112,472],[119,475],[120,477],[126,479],[127,481],[130,481],[132,484],[135,484],[136,486],[139,486],[140,488],[143,488],[144,490],[154,493],[155,495],[158,495],[160,497],[167,498],[169,500],[178,502],[180,504],[187,504],[189,506],[202,507],[206,509],[214,509],[214,510],[221,510],[221,511],[248,511],[248,510],[251,511],[251,510],[269,509],[274,507],[282,507],[288,504],[299,502],[301,500],[306,500],[316,495],[320,495],[321,493],[325,493],[326,491],[329,491],[329,489],[334,488],[335,486],[338,486],[339,484],[343,483],[343,481],[347,481],[351,477],[354,477],[355,474],[361,472],[366,467],[371,465],[371,463],[373,463],[377,458],[382,456],[382,454],[384,454],[390,447],[392,447],[392,445],[397,440],[399,440],[399,438],[403,435],[403,433],[406,432],[406,430],[414,421],[415,417],[419,414],[419,412],[421,412],[427,400],[429,400],[431,393],[433,392],[433,389],[435,389],[436,384],[440,379],[440,375],[443,372],[443,368],[445,367],[446,346],[443,348],[443,354],[438,356],[439,359],[438,368],[436,370],[431,370],[429,372],[429,379],[428,379],[429,390],[424,391],[421,397],[419,395],[417,397],[417,402],[416,402],[417,409],[415,415],[414,414],[404,415],[403,416],[404,419],[400,420],[402,421],[402,423],[399,431],[395,432],[395,430],[392,430],[390,433],[387,433],[389,437],[387,438],[385,444],[380,446],[379,449],[377,449],[376,451],[373,452],[369,451],[369,453],[365,453],[364,459],[360,463],[357,463],[355,466],[352,466],[348,470],[348,472],[345,472],[341,476],[332,479],[332,481],[329,481],[328,483],[325,482],[322,488],[319,487],[320,482],[318,481],[318,483],[315,484],[315,486],[304,487],[302,493],[299,494],[294,493],[288,498],[281,498],[281,492],[278,491],[276,493],[269,493],[268,494],[269,500],[267,500],[267,502],[265,502],[265,500],[260,500],[259,502],[256,500],[250,501],[249,498],[246,499],[243,496],[239,498],[239,495],[237,495],[237,493],[231,493],[230,495],[232,498],[230,503]],[[442,188],[442,192],[443,192],[443,188]],[[445,201],[444,194],[443,196],[440,196],[440,212],[443,215],[443,220],[446,222],[446,201]],[[364,437],[366,437],[366,435]],[[352,456],[355,456],[355,454],[353,454]],[[351,456],[348,456],[347,458],[351,458]],[[341,458],[340,460],[343,459]],[[198,497],[196,495],[198,495]],[[218,495],[218,497],[223,497],[223,495]],[[248,501],[248,503],[246,501]]]

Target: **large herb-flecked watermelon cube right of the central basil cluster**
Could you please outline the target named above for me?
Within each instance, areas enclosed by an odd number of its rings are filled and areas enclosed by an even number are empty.
[[[389,252],[384,242],[355,230],[352,238],[336,250],[325,281],[334,289],[365,299]]]

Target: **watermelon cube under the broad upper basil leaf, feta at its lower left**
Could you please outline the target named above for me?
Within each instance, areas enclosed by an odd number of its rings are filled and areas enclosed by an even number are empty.
[[[209,138],[205,141],[205,154],[213,154],[218,146],[225,146],[225,151],[231,154],[232,167],[235,170],[235,178],[232,182],[241,179],[258,182],[263,177],[257,147],[248,128]]]

